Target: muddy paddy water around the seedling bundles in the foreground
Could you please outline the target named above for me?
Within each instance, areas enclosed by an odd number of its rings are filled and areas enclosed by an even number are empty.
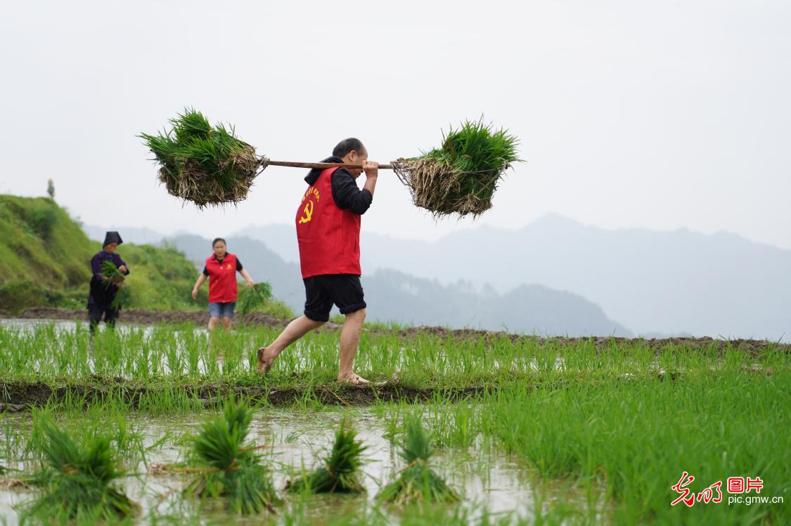
[[[198,520],[203,524],[259,524],[261,517],[239,519],[228,515],[220,506],[214,511],[199,512],[195,502],[184,499],[177,491],[184,485],[183,475],[166,473],[153,474],[154,464],[173,464],[184,458],[184,434],[198,430],[204,415],[187,418],[150,418],[134,416],[127,424],[142,434],[147,446],[155,445],[161,438],[167,437],[159,445],[146,452],[146,462],[138,458],[127,462],[127,468],[141,473],[138,478],[126,479],[123,484],[127,494],[142,505],[139,524],[152,524],[161,517],[189,517],[188,522]],[[299,471],[303,466],[310,468],[316,465],[317,456],[326,453],[331,445],[335,428],[343,418],[349,418],[358,430],[358,437],[368,445],[366,453],[368,462],[365,464],[364,484],[366,494],[361,496],[316,496],[309,498],[305,505],[307,517],[313,524],[321,524],[329,517],[339,517],[346,513],[354,513],[355,509],[365,505],[375,505],[374,497],[380,485],[392,480],[394,475],[403,468],[399,459],[398,448],[385,438],[386,426],[384,419],[373,415],[370,411],[321,411],[308,414],[295,414],[284,411],[259,410],[255,413],[252,424],[251,438],[257,444],[271,445],[265,449],[267,460],[274,465],[275,487],[282,488],[290,474]],[[31,425],[31,416],[6,415],[0,426],[0,445],[6,440],[13,441],[16,435],[24,437]],[[6,449],[6,452],[9,450]],[[21,460],[13,456],[3,460],[6,466],[32,469],[35,465],[30,460]],[[147,464],[147,467],[146,467]],[[536,490],[532,487],[532,473],[516,459],[501,453],[482,453],[480,449],[443,449],[433,459],[433,467],[463,495],[458,506],[465,507],[471,520],[479,517],[483,509],[495,514],[513,514],[514,517],[526,517],[532,514],[536,501]],[[174,488],[176,488],[175,491]],[[163,494],[169,494],[162,498]],[[542,487],[542,498],[552,500],[559,493]],[[556,493],[553,495],[553,493]],[[25,502],[33,494],[26,490],[0,489],[0,517],[6,524],[19,524],[19,512]],[[564,494],[563,499],[578,500],[584,505],[581,496]],[[287,501],[288,498],[286,497]],[[297,499],[300,499],[297,497]],[[290,505],[284,506],[273,522],[283,522],[289,515]],[[392,522],[398,522],[398,509],[384,508],[383,512]]]

